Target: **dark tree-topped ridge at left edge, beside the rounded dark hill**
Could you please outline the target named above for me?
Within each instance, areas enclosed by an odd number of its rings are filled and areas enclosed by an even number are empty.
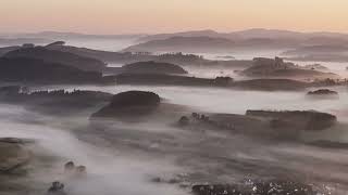
[[[30,110],[63,116],[94,112],[96,107],[107,104],[111,98],[112,94],[100,91],[54,90],[30,92],[25,87],[20,86],[0,88],[0,101],[2,103],[23,105]]]

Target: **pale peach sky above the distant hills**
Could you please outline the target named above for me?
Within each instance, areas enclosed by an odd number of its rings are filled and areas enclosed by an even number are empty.
[[[277,28],[348,32],[348,0],[0,0],[0,31]]]

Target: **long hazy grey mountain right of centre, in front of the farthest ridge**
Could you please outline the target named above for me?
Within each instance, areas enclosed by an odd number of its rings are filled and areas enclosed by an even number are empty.
[[[252,38],[234,41],[219,37],[172,37],[152,40],[124,49],[124,52],[187,52],[225,53],[238,50],[268,50],[296,48],[301,41],[294,39]]]

